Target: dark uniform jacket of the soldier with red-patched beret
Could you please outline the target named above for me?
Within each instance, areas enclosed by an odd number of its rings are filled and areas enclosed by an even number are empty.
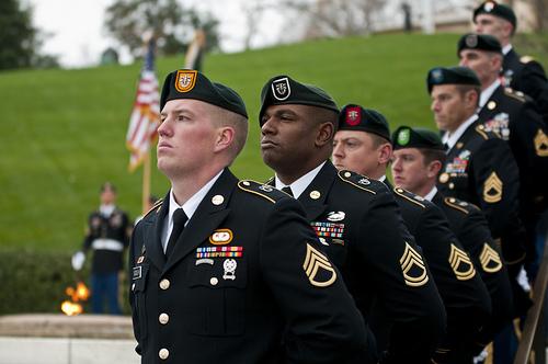
[[[422,248],[447,312],[447,332],[434,361],[471,360],[473,338],[491,316],[489,292],[468,252],[449,229],[444,213],[430,201],[385,183],[393,192],[409,232]]]

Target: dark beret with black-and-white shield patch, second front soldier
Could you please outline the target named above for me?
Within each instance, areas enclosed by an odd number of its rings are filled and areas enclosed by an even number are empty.
[[[339,113],[336,103],[326,91],[313,84],[297,82],[284,75],[271,78],[261,90],[259,123],[262,123],[266,107],[282,104],[318,106]]]

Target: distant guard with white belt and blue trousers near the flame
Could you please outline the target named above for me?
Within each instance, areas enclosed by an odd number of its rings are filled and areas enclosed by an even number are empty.
[[[123,253],[129,243],[133,225],[127,214],[116,206],[116,187],[111,182],[103,183],[100,198],[99,209],[88,218],[82,252],[75,254],[81,257],[75,269],[81,268],[84,254],[92,250],[91,310],[105,314],[106,302],[109,312],[119,315],[118,274],[124,266]]]

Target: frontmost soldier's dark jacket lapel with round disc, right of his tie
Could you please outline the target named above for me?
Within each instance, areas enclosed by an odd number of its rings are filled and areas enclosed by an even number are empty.
[[[225,220],[230,212],[227,208],[228,201],[237,183],[238,179],[228,169],[225,169],[179,237],[175,248],[165,263],[164,272],[195,250]],[[222,202],[218,205],[214,204],[213,201],[220,201],[220,197],[214,200],[214,196],[222,196]]]

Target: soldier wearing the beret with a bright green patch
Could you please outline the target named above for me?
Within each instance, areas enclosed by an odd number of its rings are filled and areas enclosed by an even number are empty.
[[[401,126],[392,134],[392,144],[391,171],[396,185],[433,202],[445,213],[452,230],[469,252],[489,289],[492,316],[476,338],[478,352],[513,318],[512,288],[500,250],[477,206],[446,197],[437,190],[437,175],[446,155],[436,133]]]

